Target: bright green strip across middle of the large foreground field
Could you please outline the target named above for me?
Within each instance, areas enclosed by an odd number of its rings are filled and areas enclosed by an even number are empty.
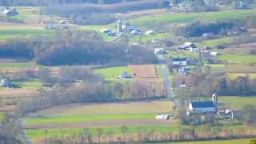
[[[93,122],[118,119],[152,119],[154,114],[118,114],[118,115],[55,115],[44,118],[26,118],[26,125],[39,125],[67,122]]]

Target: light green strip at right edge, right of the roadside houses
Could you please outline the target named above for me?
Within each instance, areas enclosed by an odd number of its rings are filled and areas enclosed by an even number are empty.
[[[235,64],[254,64],[256,63],[256,55],[247,54],[222,54],[218,58],[224,62]]]

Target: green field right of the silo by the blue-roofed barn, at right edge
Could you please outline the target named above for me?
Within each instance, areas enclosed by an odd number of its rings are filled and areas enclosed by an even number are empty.
[[[255,97],[246,97],[246,96],[219,96],[218,102],[224,103],[226,106],[235,110],[241,110],[243,106],[246,105],[255,105]]]

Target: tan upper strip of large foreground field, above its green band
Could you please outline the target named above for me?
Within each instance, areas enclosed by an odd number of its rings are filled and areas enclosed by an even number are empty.
[[[117,109],[118,108],[118,109]],[[169,101],[153,102],[124,102],[124,103],[92,103],[70,104],[40,110],[35,115],[115,115],[115,114],[156,114],[171,112],[172,103]]]

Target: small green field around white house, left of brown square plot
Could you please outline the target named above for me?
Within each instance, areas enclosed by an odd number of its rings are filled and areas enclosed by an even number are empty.
[[[117,80],[118,76],[126,71],[130,74],[130,69],[128,66],[116,66],[116,67],[106,67],[94,69],[97,74],[101,74],[102,77],[106,80]]]

